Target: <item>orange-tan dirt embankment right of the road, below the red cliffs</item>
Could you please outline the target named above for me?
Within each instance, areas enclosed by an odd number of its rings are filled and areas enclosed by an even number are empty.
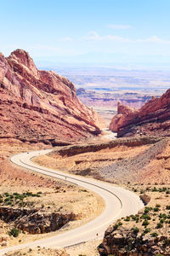
[[[170,183],[168,137],[121,138],[56,148],[35,161],[111,183]]]

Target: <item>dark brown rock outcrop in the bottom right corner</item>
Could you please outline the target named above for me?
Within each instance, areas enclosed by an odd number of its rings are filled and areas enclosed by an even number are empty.
[[[140,255],[169,255],[168,237],[150,235],[135,235],[132,230],[114,230],[110,226],[105,231],[102,244],[99,245],[101,256],[140,256]]]

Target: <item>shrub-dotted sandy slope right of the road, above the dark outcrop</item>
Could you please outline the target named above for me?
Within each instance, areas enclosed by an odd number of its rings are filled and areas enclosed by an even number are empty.
[[[138,184],[136,186],[139,187]],[[133,185],[132,190],[135,190]],[[141,189],[138,188],[137,190],[138,194],[140,194]],[[143,187],[143,190],[144,193],[146,193],[147,190],[147,195],[149,194],[151,198],[148,206],[144,207],[144,209],[138,214],[122,218],[122,227],[119,226],[118,230],[118,234],[124,234],[124,229],[125,234],[127,232],[128,236],[133,237],[131,241],[127,241],[127,247],[123,247],[126,250],[128,249],[128,252],[134,248],[135,239],[138,240],[138,245],[141,244],[141,246],[143,246],[145,239],[147,240],[148,237],[151,239],[151,237],[156,238],[159,236],[158,241],[160,241],[161,237],[161,247],[170,247],[168,233],[170,228],[170,206],[167,205],[167,191],[169,191],[169,187],[160,187],[160,185],[156,185],[152,188],[151,186],[145,186],[145,188]],[[159,194],[161,195],[159,196]],[[153,199],[155,203],[153,203]],[[135,226],[134,223],[136,223]],[[118,222],[115,224],[115,226],[118,227]],[[128,233],[130,230],[132,233]],[[113,232],[116,232],[116,230]]]

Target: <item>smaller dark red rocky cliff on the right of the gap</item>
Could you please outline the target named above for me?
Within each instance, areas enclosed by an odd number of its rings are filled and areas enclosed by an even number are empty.
[[[118,103],[110,130],[117,132],[118,137],[169,136],[170,89],[159,98],[152,97],[139,110]]]

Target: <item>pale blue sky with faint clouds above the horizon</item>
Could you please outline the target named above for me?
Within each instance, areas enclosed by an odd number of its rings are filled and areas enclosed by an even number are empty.
[[[170,0],[0,0],[0,9],[4,55],[170,66]]]

